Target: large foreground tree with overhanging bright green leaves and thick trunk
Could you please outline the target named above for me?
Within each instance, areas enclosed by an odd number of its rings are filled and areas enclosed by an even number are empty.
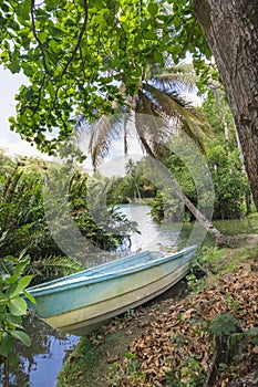
[[[76,117],[113,113],[113,104],[123,105],[124,97],[133,97],[149,67],[164,67],[167,59],[178,63],[190,53],[200,74],[198,86],[206,90],[210,80],[218,79],[216,69],[210,72],[205,64],[213,53],[258,207],[256,107],[251,103],[257,83],[254,9],[254,0],[248,8],[223,0],[2,1],[1,63],[12,73],[23,71],[29,80],[17,95],[18,114],[10,118],[11,128],[53,153],[73,132]],[[220,25],[228,28],[221,31]],[[236,48],[234,61],[231,46]],[[146,85],[151,93],[152,86]],[[250,138],[255,147],[249,147]]]

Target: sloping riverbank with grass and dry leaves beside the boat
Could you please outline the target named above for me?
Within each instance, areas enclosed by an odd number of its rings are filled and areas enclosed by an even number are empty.
[[[257,386],[258,236],[202,255],[205,281],[192,274],[81,338],[58,386]]]

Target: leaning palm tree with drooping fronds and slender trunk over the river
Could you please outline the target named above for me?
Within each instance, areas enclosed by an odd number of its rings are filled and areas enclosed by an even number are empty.
[[[209,133],[209,126],[202,114],[179,96],[179,92],[194,87],[193,66],[151,70],[151,74],[149,69],[145,71],[137,93],[133,97],[124,98],[124,106],[113,103],[116,112],[114,115],[102,115],[93,125],[79,121],[79,136],[85,130],[90,135],[89,153],[94,168],[107,156],[111,145],[117,138],[123,137],[124,151],[127,153],[128,127],[132,127],[132,123],[143,150],[153,159],[158,160],[172,137],[179,133],[187,134],[200,151],[205,151],[203,137]],[[123,91],[123,87],[121,90]],[[224,242],[225,236],[190,202],[175,181],[169,179],[169,184],[217,243]]]

